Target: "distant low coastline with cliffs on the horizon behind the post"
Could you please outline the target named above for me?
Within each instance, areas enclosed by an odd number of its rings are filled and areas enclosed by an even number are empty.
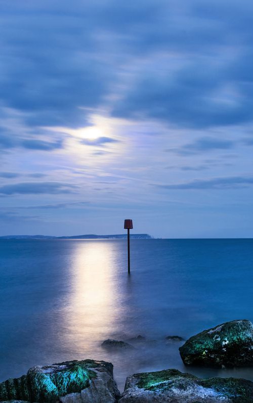
[[[1,239],[126,239],[127,234],[115,234],[115,235],[73,235],[70,237],[54,237],[51,235],[4,235]],[[153,239],[149,234],[131,234],[131,239]]]

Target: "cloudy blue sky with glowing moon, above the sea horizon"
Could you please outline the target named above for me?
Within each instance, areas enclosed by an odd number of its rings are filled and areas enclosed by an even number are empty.
[[[253,237],[253,3],[0,0],[0,235]]]

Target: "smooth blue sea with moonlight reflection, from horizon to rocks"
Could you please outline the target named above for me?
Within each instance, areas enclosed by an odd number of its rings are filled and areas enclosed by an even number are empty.
[[[121,390],[165,368],[253,380],[253,369],[186,368],[182,343],[164,340],[253,320],[252,239],[133,240],[130,277],[123,240],[1,240],[0,253],[0,381],[87,358],[112,362]],[[101,347],[139,334],[149,342],[133,351]]]

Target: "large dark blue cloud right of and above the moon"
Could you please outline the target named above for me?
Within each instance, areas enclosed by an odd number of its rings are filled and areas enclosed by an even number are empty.
[[[142,73],[134,87],[114,106],[113,115],[157,119],[188,128],[252,121],[252,93],[246,83],[228,78],[229,69],[230,66],[218,68],[215,60],[196,60],[174,73],[169,70],[165,74]],[[220,94],[222,87],[228,85],[237,87],[240,94],[233,102]]]

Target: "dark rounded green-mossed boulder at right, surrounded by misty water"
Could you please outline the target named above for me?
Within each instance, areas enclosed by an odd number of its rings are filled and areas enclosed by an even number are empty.
[[[192,336],[179,348],[186,365],[243,367],[253,365],[253,325],[226,322]]]

